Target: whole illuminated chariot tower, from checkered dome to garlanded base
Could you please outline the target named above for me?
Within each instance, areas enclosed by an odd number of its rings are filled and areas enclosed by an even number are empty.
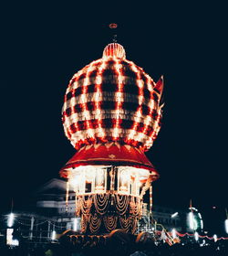
[[[159,176],[144,152],[160,131],[162,89],[162,78],[155,83],[117,43],[69,81],[62,121],[77,153],[60,176],[67,205],[75,192],[83,233],[135,232],[143,196]]]

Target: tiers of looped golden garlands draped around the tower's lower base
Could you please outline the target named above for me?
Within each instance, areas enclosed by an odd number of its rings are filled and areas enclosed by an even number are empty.
[[[141,214],[141,199],[129,195],[93,194],[78,196],[76,216],[81,216],[81,231],[94,234],[103,223],[108,232],[124,229],[134,233]],[[119,221],[118,221],[119,220]]]

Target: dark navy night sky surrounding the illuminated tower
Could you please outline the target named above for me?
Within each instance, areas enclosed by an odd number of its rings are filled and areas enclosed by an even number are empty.
[[[127,59],[154,80],[164,75],[161,132],[146,154],[161,174],[155,204],[228,207],[225,6],[22,2],[0,8],[1,209],[11,197],[25,204],[74,155],[61,123],[67,83],[101,57],[111,22]]]

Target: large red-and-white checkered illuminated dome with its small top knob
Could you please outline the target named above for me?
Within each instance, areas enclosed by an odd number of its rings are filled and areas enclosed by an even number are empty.
[[[76,149],[116,142],[148,150],[161,127],[162,78],[155,83],[109,44],[69,81],[62,110],[67,138]]]

